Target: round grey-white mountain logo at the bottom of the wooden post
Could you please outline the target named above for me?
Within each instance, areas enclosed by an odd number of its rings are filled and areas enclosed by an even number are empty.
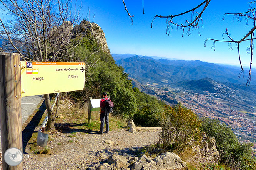
[[[4,159],[8,165],[17,166],[22,162],[23,155],[20,149],[11,147],[5,151]]]

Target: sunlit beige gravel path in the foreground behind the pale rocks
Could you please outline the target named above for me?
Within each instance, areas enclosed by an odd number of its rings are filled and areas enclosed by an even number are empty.
[[[56,132],[51,135],[54,141],[48,141],[50,154],[23,154],[24,170],[85,170],[92,163],[104,161],[106,155],[114,152],[136,154],[145,145],[153,144],[158,138],[158,132],[130,133],[125,129],[110,131],[98,135],[77,132],[75,137],[70,134]],[[68,140],[72,140],[70,143]],[[115,144],[106,144],[111,140]],[[61,145],[58,145],[60,144]],[[28,148],[26,148],[27,150]]]

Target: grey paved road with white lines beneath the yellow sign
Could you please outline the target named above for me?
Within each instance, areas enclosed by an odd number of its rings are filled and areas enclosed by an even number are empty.
[[[22,110],[22,124],[28,119],[28,116],[37,109],[37,105],[43,100],[42,95],[28,96],[22,98],[21,110]],[[1,137],[1,136],[0,136]],[[1,141],[0,141],[1,145]],[[0,152],[2,148],[0,147]]]

